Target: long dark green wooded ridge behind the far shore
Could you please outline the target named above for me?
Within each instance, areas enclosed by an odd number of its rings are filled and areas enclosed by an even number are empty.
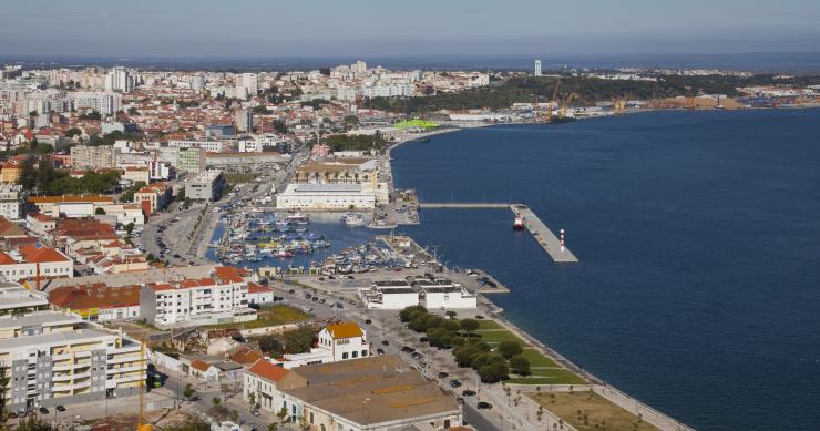
[[[396,113],[424,113],[439,110],[471,110],[509,107],[513,103],[531,103],[552,101],[557,86],[556,99],[563,100],[574,94],[572,105],[592,105],[599,101],[615,99],[663,99],[681,96],[686,88],[691,93],[725,94],[737,96],[737,88],[767,84],[797,84],[808,85],[817,83],[817,76],[792,76],[779,79],[771,74],[742,76],[658,76],[657,82],[602,80],[597,78],[580,76],[514,76],[498,84],[479,89],[470,89],[459,93],[443,93],[429,96],[406,99],[375,98],[369,101],[370,106],[377,110]]]

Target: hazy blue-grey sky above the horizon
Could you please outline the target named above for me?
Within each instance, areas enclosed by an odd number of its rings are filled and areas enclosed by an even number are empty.
[[[0,55],[820,51],[819,0],[2,0]]]

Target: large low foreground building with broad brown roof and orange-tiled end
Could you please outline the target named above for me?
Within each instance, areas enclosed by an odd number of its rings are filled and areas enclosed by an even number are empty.
[[[263,410],[285,409],[311,430],[447,430],[461,407],[435,381],[393,355],[276,370],[263,361],[246,371],[243,397]]]

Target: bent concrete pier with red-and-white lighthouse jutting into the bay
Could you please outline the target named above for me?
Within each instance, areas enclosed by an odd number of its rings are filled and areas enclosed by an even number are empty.
[[[519,204],[500,204],[500,203],[419,203],[421,209],[500,209],[509,208],[514,214],[520,214],[524,217],[524,227],[532,234],[533,238],[539,243],[541,248],[546,252],[547,255],[556,264],[576,264],[578,258],[570,252],[566,247],[561,247],[561,239],[550,230],[544,222],[533,213],[526,205]]]

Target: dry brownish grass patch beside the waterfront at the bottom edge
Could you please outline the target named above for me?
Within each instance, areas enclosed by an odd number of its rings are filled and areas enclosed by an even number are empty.
[[[597,393],[530,392],[527,396],[578,431],[657,430]]]

